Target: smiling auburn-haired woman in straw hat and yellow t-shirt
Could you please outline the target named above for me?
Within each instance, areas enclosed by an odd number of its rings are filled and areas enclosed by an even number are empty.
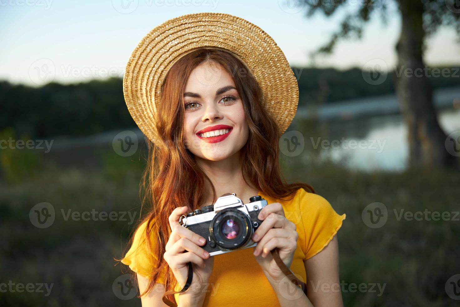
[[[343,306],[335,234],[345,214],[310,185],[282,180],[278,140],[299,92],[271,37],[228,14],[180,16],[139,43],[123,85],[150,148],[143,190],[151,207],[121,261],[136,272],[142,305],[167,306],[163,294],[184,287],[191,262],[189,289],[168,296],[178,306]],[[268,205],[255,247],[210,256],[208,238],[179,218],[225,193],[243,203],[260,195]]]

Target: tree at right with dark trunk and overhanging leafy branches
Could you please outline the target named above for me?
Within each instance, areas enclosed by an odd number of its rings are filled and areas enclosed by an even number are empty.
[[[340,6],[357,5],[356,12],[348,13],[339,29],[329,41],[312,52],[330,54],[339,39],[361,39],[362,30],[374,11],[380,11],[383,23],[387,23],[388,6],[385,0],[299,0],[307,8],[307,17],[317,10],[327,17]],[[423,60],[425,39],[440,26],[454,26],[460,34],[460,6],[458,0],[393,0],[401,18],[401,35],[395,47],[397,52],[394,79],[396,94],[404,122],[408,127],[409,167],[432,166],[448,168],[456,165],[456,159],[446,150],[447,135],[437,121],[436,108]],[[349,3],[347,3],[349,2]],[[460,41],[460,35],[459,35]],[[410,72],[410,73],[407,73]],[[423,72],[423,73],[420,73]]]

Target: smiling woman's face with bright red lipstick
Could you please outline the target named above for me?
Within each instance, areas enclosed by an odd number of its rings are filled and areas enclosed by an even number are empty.
[[[219,161],[246,144],[249,129],[240,95],[219,64],[201,63],[191,72],[184,108],[185,146],[195,156]],[[203,130],[206,132],[200,133]]]

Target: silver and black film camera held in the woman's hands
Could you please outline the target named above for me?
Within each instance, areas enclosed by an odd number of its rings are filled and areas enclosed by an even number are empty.
[[[220,255],[257,245],[251,236],[262,223],[257,216],[266,205],[259,195],[244,204],[235,193],[227,193],[213,205],[182,215],[179,223],[206,239],[201,248],[209,255]]]

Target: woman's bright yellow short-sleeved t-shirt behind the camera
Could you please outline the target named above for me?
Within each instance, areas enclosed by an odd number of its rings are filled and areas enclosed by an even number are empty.
[[[281,203],[286,218],[296,225],[299,239],[290,269],[305,282],[304,260],[319,253],[332,240],[346,215],[337,214],[324,197],[303,188],[296,191],[291,201],[273,199],[260,191],[259,195],[269,204]],[[146,256],[143,238],[145,226],[146,223],[139,227],[131,248],[121,261],[143,276],[147,276],[152,267],[156,267],[149,263]],[[164,284],[164,273],[159,282]],[[177,285],[175,290],[180,289]],[[214,256],[207,291],[203,307],[226,306],[229,302],[232,306],[280,306],[274,290],[254,258],[253,248]],[[175,294],[175,298],[178,302],[179,294]]]

